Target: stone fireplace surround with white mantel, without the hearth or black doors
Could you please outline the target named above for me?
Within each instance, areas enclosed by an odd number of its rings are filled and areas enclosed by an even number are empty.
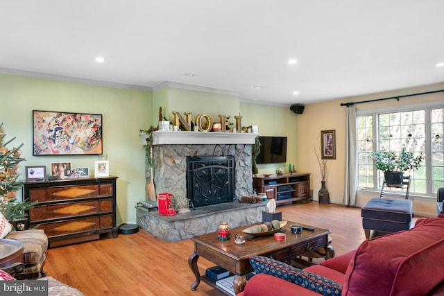
[[[187,194],[187,157],[233,157],[234,200],[253,193],[251,144],[258,134],[228,132],[153,133],[154,184],[157,193],[171,193],[176,207]],[[147,174],[149,174],[147,170]]]

